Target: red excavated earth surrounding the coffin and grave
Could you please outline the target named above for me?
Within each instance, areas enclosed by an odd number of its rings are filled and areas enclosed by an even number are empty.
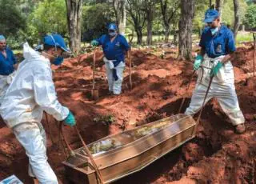
[[[161,56],[162,50],[165,54]],[[91,98],[93,54],[71,58],[54,67],[54,83],[58,99],[74,112],[79,130],[86,143],[109,134],[132,129],[148,122],[178,113],[186,97],[184,112],[194,90],[187,83],[193,63],[178,61],[177,50],[170,48],[132,51],[132,84],[129,85],[127,64],[122,94],[108,94],[102,51],[97,53],[95,88],[98,100]],[[202,121],[194,139],[166,154],[144,170],[122,178],[116,183],[256,183],[256,77],[253,77],[254,48],[246,44],[238,48],[233,65],[239,104],[246,117],[246,133],[234,134],[230,120],[214,99],[206,104]],[[194,116],[197,118],[197,114]],[[69,183],[62,161],[66,159],[58,142],[58,127],[54,118],[43,118],[47,134],[50,165],[60,183]],[[50,138],[50,134],[51,137]],[[81,147],[74,129],[66,126],[64,134],[74,149]],[[27,174],[25,150],[11,130],[0,122],[0,181],[15,174],[24,183],[33,183]]]

